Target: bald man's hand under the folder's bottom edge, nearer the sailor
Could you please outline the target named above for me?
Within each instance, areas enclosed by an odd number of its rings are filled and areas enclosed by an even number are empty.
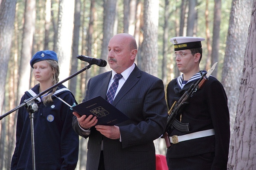
[[[118,126],[96,125],[95,128],[102,135],[106,136],[109,139],[119,139],[120,138],[120,130],[119,130]]]

